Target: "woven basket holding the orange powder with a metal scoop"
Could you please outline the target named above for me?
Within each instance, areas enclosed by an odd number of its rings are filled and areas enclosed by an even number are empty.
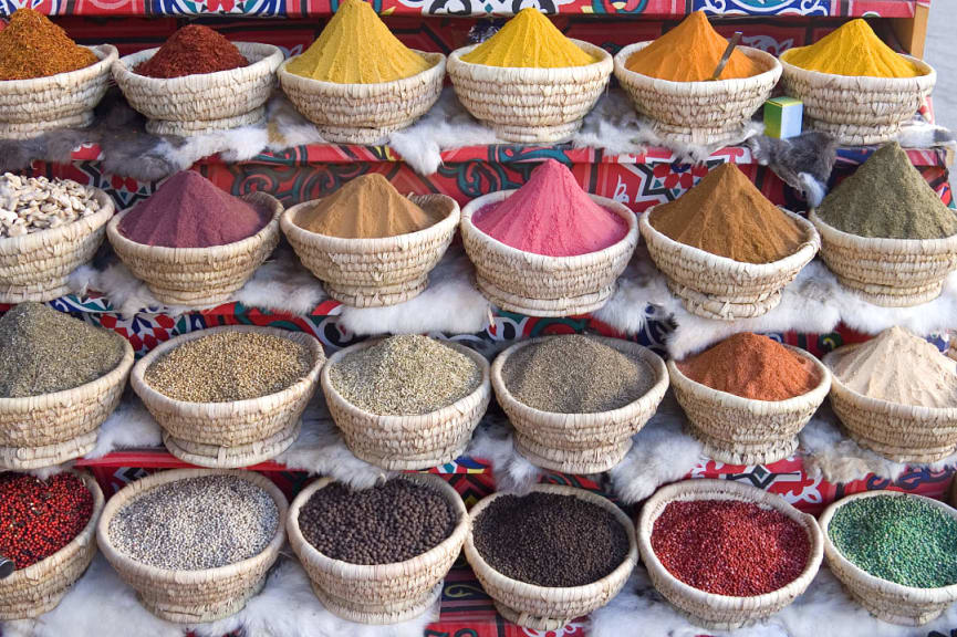
[[[751,77],[716,82],[670,82],[626,67],[628,59],[651,42],[638,42],[615,55],[615,77],[635,109],[655,123],[666,138],[685,144],[719,144],[739,138],[745,125],[771,96],[781,64],[763,51],[738,46],[763,72]]]

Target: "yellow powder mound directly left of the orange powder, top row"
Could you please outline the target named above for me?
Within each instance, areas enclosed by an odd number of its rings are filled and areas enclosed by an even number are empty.
[[[519,11],[498,33],[461,56],[486,66],[559,69],[597,62],[533,7]]]

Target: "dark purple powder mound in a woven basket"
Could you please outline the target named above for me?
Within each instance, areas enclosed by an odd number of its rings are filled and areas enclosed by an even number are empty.
[[[177,173],[119,221],[119,233],[144,246],[208,248],[252,237],[271,213],[217,188],[193,170]]]

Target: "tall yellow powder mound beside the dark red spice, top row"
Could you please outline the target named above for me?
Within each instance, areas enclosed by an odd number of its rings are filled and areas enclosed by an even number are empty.
[[[343,0],[305,53],[285,70],[336,84],[376,84],[412,77],[431,64],[392,34],[362,0]]]

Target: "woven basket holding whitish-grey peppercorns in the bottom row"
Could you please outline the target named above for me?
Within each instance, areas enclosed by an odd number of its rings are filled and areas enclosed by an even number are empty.
[[[110,540],[110,521],[125,504],[160,484],[204,476],[233,476],[252,482],[269,493],[279,510],[279,524],[275,536],[262,553],[218,568],[170,571],[137,562],[113,546]],[[147,610],[160,619],[178,624],[216,622],[242,610],[250,597],[262,589],[267,572],[279,557],[279,551],[285,542],[288,508],[289,503],[282,491],[268,478],[252,471],[214,469],[160,471],[131,482],[110,499],[100,518],[100,524],[96,525],[96,541],[100,551],[119,577],[136,589],[139,603]]]

